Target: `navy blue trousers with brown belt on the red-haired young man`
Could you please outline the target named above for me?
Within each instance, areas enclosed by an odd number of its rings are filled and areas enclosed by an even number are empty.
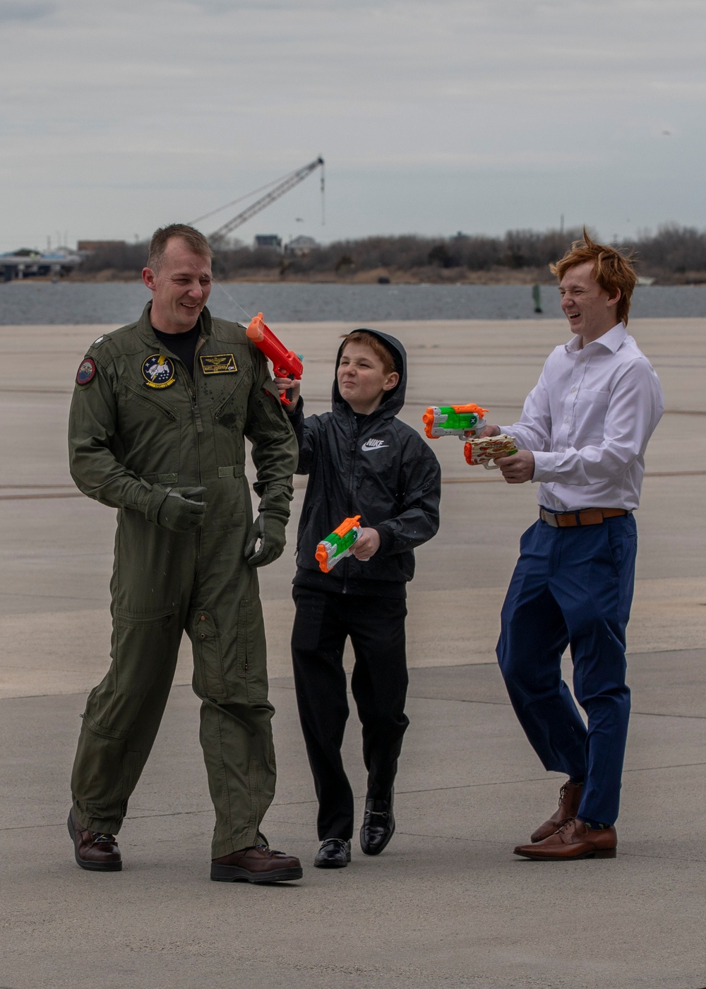
[[[614,824],[628,734],[625,627],[635,579],[632,515],[555,529],[537,521],[502,606],[497,660],[522,728],[546,769],[585,778],[578,817]],[[574,695],[562,679],[567,646]]]

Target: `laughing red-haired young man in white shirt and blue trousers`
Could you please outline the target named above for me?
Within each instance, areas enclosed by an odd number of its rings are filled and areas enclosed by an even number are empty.
[[[508,484],[539,483],[540,517],[522,536],[502,607],[497,659],[545,768],[566,773],[558,810],[515,854],[614,857],[630,714],[625,627],[635,577],[645,450],[663,411],[660,381],[628,336],[628,258],[584,239],[552,265],[574,338],[550,354],[519,422]],[[562,679],[571,647],[574,694]]]

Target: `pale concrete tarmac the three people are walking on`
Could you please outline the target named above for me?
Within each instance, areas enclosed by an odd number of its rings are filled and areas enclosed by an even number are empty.
[[[329,407],[339,335],[353,325],[273,327],[305,354],[309,412]],[[279,770],[264,830],[305,864],[301,882],[279,887],[209,880],[213,811],[188,642],[121,832],[123,872],[73,861],[69,775],[85,694],[109,662],[115,514],[73,488],[66,413],[86,347],[110,328],[0,327],[0,989],[706,986],[706,320],[630,323],[667,411],[638,513],[618,857],[512,855],[552,812],[562,781],[529,748],[493,654],[536,489],[469,468],[459,441],[437,440],[443,520],[417,552],[409,588],[397,834],[380,857],[354,840],[344,870],[310,865],[315,801],[289,661],[304,479],[290,544],[260,572]],[[511,423],[569,336],[560,320],[381,328],[407,347],[404,418],[420,429],[426,405],[451,402],[478,402],[490,421]],[[362,815],[354,713],[345,759]]]

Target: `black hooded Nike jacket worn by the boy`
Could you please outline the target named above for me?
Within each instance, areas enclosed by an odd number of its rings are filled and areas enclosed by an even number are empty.
[[[397,387],[370,415],[356,417],[334,377],[330,412],[305,418],[300,400],[292,415],[300,447],[297,474],[309,475],[293,583],[337,593],[405,597],[405,584],[414,576],[414,547],[439,528],[441,469],[419,433],[396,418],[406,390],[404,347],[387,333],[366,332],[379,336],[392,352]],[[352,515],[361,516],[361,526],[378,530],[380,549],[366,562],[347,557],[322,574],[316,546]]]

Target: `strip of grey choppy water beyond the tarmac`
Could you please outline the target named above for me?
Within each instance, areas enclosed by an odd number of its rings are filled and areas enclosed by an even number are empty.
[[[238,283],[211,294],[209,309],[227,319],[258,311],[271,322],[385,319],[528,319],[560,317],[559,293],[542,286],[544,313],[534,313],[529,285],[273,285]],[[141,282],[0,284],[0,324],[132,322],[149,293]],[[236,305],[237,304],[237,305]],[[238,308],[242,307],[242,310]],[[631,316],[706,316],[706,285],[640,286]]]

